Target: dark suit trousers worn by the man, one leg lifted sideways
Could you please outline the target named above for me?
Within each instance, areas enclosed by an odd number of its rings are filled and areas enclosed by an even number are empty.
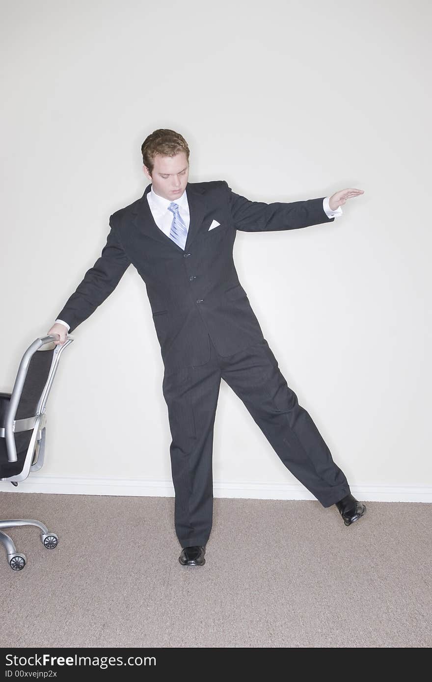
[[[268,342],[229,357],[218,355],[211,340],[210,347],[206,364],[165,372],[162,383],[172,436],[175,532],[182,547],[205,545],[212,530],[213,432],[221,378],[244,402],[287,469],[323,507],[349,494],[345,475],[288,387]]]

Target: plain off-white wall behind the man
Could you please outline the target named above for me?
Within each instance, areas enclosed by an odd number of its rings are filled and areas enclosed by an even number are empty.
[[[0,389],[98,258],[110,214],[143,193],[145,136],[174,128],[192,182],[268,203],[364,190],[332,224],[237,233],[235,263],[356,490],[432,486],[430,4],[23,1],[2,14]],[[162,359],[132,266],[72,336],[44,475],[169,484]],[[245,496],[297,482],[223,382],[214,479]]]

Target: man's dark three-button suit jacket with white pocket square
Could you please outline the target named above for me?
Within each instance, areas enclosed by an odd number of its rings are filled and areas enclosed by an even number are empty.
[[[110,217],[111,231],[91,267],[57,318],[73,331],[119,283],[132,263],[145,282],[165,372],[205,364],[208,335],[220,355],[263,340],[233,261],[237,230],[293,230],[332,222],[323,197],[291,203],[249,201],[225,180],[188,183],[190,225],[182,250],[154,222],[141,198]],[[220,225],[209,231],[217,220]]]

